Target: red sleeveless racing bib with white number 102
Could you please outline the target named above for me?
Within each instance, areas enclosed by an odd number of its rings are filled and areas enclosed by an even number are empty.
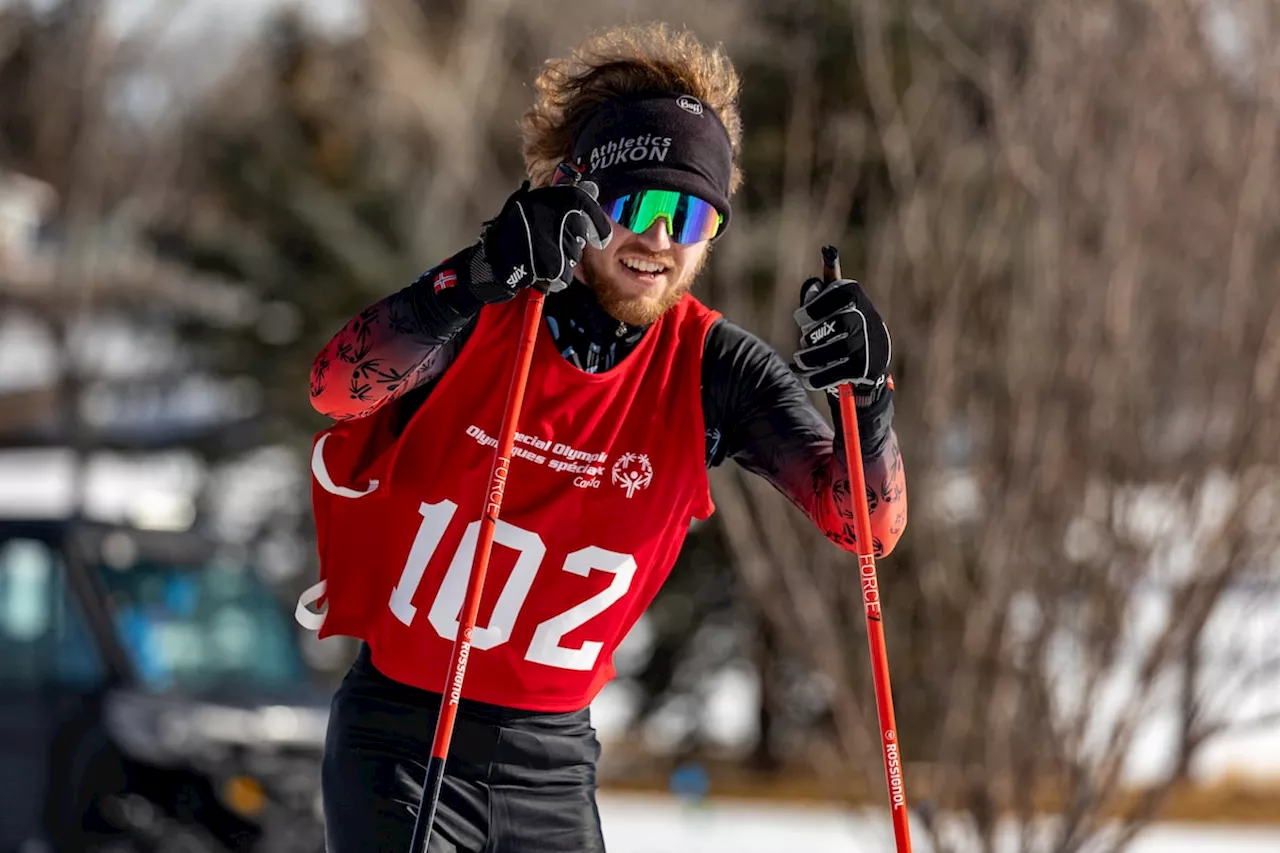
[[[379,670],[445,692],[511,382],[524,300],[492,305],[397,435],[390,406],[312,447],[320,637],[362,638]],[[692,519],[713,511],[701,356],[719,315],[685,296],[621,364],[588,374],[539,330],[462,695],[586,707]],[[324,599],[320,616],[303,605]]]

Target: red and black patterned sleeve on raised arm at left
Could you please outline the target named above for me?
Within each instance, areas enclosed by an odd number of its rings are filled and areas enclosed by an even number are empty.
[[[440,268],[352,318],[311,365],[311,405],[334,420],[370,415],[438,379],[475,324],[479,305]],[[439,282],[447,284],[439,288]]]

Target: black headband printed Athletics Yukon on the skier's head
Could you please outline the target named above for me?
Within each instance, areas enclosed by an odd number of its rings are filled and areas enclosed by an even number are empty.
[[[676,190],[709,202],[728,225],[733,150],[716,111],[678,92],[596,106],[573,140],[573,163],[611,201],[640,190]]]

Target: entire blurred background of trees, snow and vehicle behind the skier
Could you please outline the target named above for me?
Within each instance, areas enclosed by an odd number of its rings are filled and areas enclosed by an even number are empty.
[[[311,359],[645,19],[744,77],[698,295],[790,357],[832,242],[895,336],[918,849],[1280,849],[1272,0],[0,0],[0,852],[323,849]],[[713,485],[594,706],[611,849],[891,849],[854,561]]]

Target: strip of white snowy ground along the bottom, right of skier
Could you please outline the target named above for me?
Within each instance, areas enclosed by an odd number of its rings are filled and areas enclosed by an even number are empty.
[[[758,803],[689,807],[662,797],[600,797],[609,853],[892,853],[893,836],[886,817],[833,808]],[[911,840],[914,850],[929,853],[923,833],[916,831]],[[1015,847],[1000,849],[1011,853]],[[1160,824],[1139,835],[1129,850],[1277,853],[1280,829]]]

